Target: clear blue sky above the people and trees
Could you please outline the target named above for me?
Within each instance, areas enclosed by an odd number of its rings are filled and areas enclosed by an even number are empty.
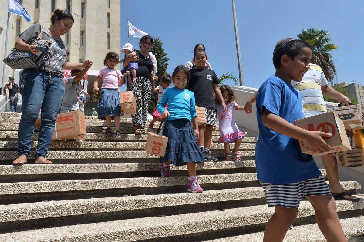
[[[297,37],[303,28],[327,29],[339,50],[333,52],[337,81],[364,86],[363,0],[242,1],[236,0],[236,15],[245,86],[259,88],[274,74],[272,53],[277,41]],[[205,45],[217,76],[233,72],[238,64],[232,3],[230,0],[122,1],[121,45],[127,43],[127,18],[136,28],[158,35],[168,54],[167,71],[192,60],[195,44]],[[130,43],[139,49],[139,38]],[[233,85],[233,82],[227,84]]]

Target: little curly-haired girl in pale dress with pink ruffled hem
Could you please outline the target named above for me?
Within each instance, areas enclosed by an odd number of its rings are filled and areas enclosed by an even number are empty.
[[[226,104],[226,112],[223,111],[219,100],[215,97],[217,116],[219,118],[220,138],[218,143],[224,143],[226,161],[240,160],[239,147],[244,133],[238,129],[234,119],[234,110],[244,111],[244,106],[239,106],[236,101],[235,92],[228,85],[220,87],[222,98]],[[233,152],[230,154],[230,142],[235,143]]]

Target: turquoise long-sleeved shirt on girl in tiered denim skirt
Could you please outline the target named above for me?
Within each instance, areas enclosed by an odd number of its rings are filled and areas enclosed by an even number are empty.
[[[197,116],[195,108],[195,95],[186,89],[175,87],[167,88],[163,93],[161,101],[157,104],[157,110],[160,114],[166,111],[165,106],[168,103],[169,120],[191,119]]]

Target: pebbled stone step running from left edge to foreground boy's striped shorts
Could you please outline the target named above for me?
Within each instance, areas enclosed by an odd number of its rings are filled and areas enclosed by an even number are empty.
[[[262,187],[212,190],[196,194],[171,193],[160,195],[126,195],[123,197],[0,205],[0,223],[90,213],[109,213],[123,210],[142,210],[150,208],[159,208],[160,210],[160,208],[163,207],[188,206],[197,205],[198,203],[217,203],[254,198],[264,198]],[[248,205],[244,204],[244,206]],[[75,210],[75,207],[78,209]],[[210,208],[210,210],[213,209]],[[157,211],[155,212],[155,216],[160,215],[157,214]]]

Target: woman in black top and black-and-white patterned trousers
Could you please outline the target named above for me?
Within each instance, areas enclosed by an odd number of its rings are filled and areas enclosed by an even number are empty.
[[[123,67],[127,67],[129,62],[138,62],[137,81],[131,82],[128,85],[128,91],[132,91],[137,101],[137,114],[132,114],[131,119],[135,127],[135,134],[148,134],[144,130],[145,123],[147,122],[147,115],[149,104],[151,100],[151,76],[153,80],[158,80],[157,74],[157,60],[150,47],[153,44],[153,38],[150,35],[145,35],[139,42],[139,49],[134,57],[127,58]]]

